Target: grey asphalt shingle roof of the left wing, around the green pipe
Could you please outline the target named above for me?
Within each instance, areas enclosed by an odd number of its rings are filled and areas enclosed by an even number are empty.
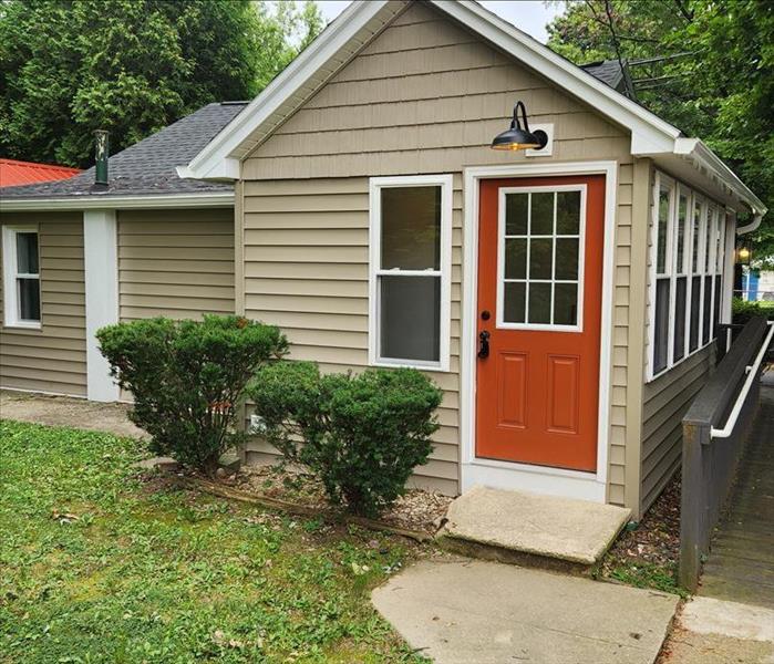
[[[94,187],[94,167],[66,180],[2,187],[0,198],[69,198],[230,191],[228,183],[182,179],[176,166],[190,162],[247,102],[207,104],[152,136],[116,153],[109,162],[109,185]]]

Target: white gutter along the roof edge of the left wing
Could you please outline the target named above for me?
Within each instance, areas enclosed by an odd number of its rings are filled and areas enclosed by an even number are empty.
[[[2,199],[0,212],[24,210],[158,209],[231,207],[234,191],[203,194],[149,194],[134,196],[81,195],[62,198]]]

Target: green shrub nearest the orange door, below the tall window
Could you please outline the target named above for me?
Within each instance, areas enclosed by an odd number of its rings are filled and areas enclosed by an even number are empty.
[[[248,390],[267,439],[307,466],[334,504],[374,517],[427,463],[442,392],[412,369],[320,375],[311,362],[261,369]]]

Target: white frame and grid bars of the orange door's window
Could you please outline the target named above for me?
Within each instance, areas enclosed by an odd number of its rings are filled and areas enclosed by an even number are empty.
[[[550,332],[582,332],[584,331],[584,266],[586,264],[586,185],[547,185],[540,187],[500,187],[498,193],[498,205],[497,205],[497,320],[496,328],[498,330],[544,330]],[[503,305],[504,289],[505,289],[505,196],[507,194],[541,194],[541,193],[555,193],[555,191],[580,191],[580,226],[578,228],[578,322],[575,325],[561,325],[554,323],[507,323],[504,320],[505,307]],[[556,199],[554,201],[554,220],[556,222]],[[529,212],[529,219],[527,220],[527,236],[532,237],[572,237],[576,236],[533,236],[532,235],[532,211]],[[554,227],[556,231],[556,226]],[[554,257],[551,262],[551,269],[556,271],[556,241],[554,242]],[[554,279],[551,277],[547,280],[541,279],[530,279],[529,278],[529,241],[527,241],[527,274],[524,281],[526,283],[570,283],[574,280],[561,280]],[[520,280],[517,280],[520,281]],[[529,288],[527,287],[525,292],[525,318],[528,318],[529,312]],[[551,294],[550,310],[554,311],[554,295]]]

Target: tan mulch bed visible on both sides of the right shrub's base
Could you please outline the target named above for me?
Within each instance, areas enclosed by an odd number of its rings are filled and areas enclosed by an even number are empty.
[[[247,466],[218,481],[257,498],[267,497],[314,509],[331,508],[322,484],[299,469]],[[435,491],[409,489],[379,520],[393,528],[435,535],[452,500]]]

